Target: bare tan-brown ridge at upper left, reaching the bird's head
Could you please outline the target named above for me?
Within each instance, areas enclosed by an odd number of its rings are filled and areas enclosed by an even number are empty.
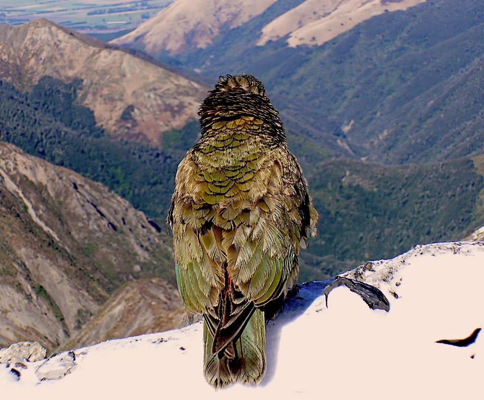
[[[154,145],[160,144],[162,132],[197,118],[208,90],[45,19],[0,25],[0,79],[24,90],[43,76],[64,82],[82,79],[78,100],[94,111],[98,124],[113,137]]]

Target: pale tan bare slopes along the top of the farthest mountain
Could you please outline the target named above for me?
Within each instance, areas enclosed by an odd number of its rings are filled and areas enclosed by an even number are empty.
[[[227,31],[262,15],[251,38],[255,39],[254,44],[265,45],[269,40],[289,36],[290,46],[321,45],[375,15],[406,10],[424,1],[204,0],[194,4],[189,0],[177,0],[111,43],[142,48],[150,54],[178,56],[206,48],[216,36],[224,36]]]

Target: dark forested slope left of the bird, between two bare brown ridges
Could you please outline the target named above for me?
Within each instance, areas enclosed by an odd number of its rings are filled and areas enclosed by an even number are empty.
[[[79,85],[45,77],[20,93],[1,83],[0,140],[103,183],[163,228],[176,167],[197,140],[198,123],[165,132],[161,139],[169,151],[111,140],[93,112],[75,101]]]

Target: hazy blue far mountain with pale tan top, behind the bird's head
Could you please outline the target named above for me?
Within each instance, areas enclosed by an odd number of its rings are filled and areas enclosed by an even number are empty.
[[[374,16],[325,43],[294,47],[285,35],[260,45],[269,23],[308,5],[279,0],[220,30],[204,48],[152,55],[214,78],[252,73],[265,82],[286,129],[335,156],[401,164],[482,151],[482,2],[423,2]],[[325,18],[330,15],[318,21]],[[166,26],[169,21],[157,29]],[[139,41],[148,33],[131,40],[134,32],[114,41],[143,48]]]

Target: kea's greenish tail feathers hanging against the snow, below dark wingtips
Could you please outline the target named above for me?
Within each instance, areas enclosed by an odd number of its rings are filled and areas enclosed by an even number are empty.
[[[266,373],[266,331],[264,311],[256,309],[241,335],[217,354],[212,354],[213,336],[203,325],[204,372],[215,388],[231,382],[259,383]]]

